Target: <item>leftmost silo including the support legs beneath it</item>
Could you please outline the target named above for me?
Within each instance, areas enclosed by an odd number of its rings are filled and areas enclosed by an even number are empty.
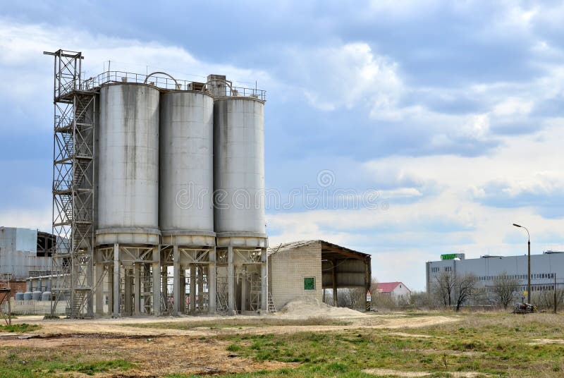
[[[114,317],[159,313],[159,99],[159,89],[143,83],[100,88],[93,282],[107,272]],[[102,314],[103,295],[95,306]]]

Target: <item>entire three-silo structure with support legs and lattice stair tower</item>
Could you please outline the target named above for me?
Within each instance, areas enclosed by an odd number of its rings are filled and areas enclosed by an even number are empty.
[[[54,56],[52,306],[70,317],[268,307],[263,90]],[[188,298],[186,297],[188,288]]]

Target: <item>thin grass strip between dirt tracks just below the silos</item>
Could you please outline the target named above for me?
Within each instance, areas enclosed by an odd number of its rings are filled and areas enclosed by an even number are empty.
[[[157,329],[194,329],[194,328],[238,328],[238,327],[276,327],[276,326],[344,326],[350,322],[341,319],[330,319],[326,317],[310,317],[308,319],[280,319],[280,318],[226,318],[209,320],[190,320],[188,322],[152,322],[152,323],[128,323],[121,324],[123,327],[157,328]]]

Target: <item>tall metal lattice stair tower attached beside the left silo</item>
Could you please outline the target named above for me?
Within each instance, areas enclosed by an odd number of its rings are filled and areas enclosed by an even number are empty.
[[[81,90],[80,52],[44,54],[55,59],[51,316],[66,300],[69,317],[92,317],[96,93]]]

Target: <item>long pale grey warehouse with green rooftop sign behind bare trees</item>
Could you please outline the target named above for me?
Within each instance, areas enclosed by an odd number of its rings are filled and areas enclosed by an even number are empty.
[[[474,274],[478,278],[478,288],[494,286],[498,277],[508,274],[517,279],[520,291],[527,290],[527,255],[494,256],[484,255],[477,259],[465,259],[463,253],[441,255],[443,260],[426,263],[427,293],[443,272],[456,275]],[[564,279],[564,252],[546,251],[541,255],[531,255],[531,292],[552,291],[555,278],[560,285]]]

